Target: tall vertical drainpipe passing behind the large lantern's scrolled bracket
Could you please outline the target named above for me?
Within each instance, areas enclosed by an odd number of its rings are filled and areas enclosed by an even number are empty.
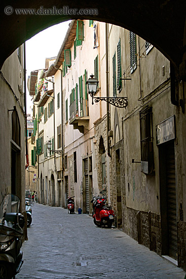
[[[105,57],[106,57],[106,97],[108,97],[108,23],[105,23]],[[106,121],[107,121],[107,155],[110,155],[110,145],[109,145],[109,103],[106,102]]]

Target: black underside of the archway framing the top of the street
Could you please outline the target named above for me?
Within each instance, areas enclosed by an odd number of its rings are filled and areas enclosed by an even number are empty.
[[[121,1],[115,5],[111,1],[74,0],[33,0],[25,2],[23,0],[1,2],[1,61],[12,54],[24,41],[33,37],[36,33],[49,26],[69,19],[95,19],[109,22],[129,29],[149,43],[152,43],[160,50],[178,69],[185,55],[185,0],[179,1],[147,1],[138,0]],[[77,9],[71,14],[41,15],[43,9]],[[8,8],[9,7],[9,10]],[[38,14],[16,14],[16,8],[32,8],[38,10]],[[80,9],[97,9],[97,15],[80,15]],[[69,10],[68,10],[69,11]],[[82,11],[82,10],[81,10]],[[12,14],[11,14],[12,12]],[[9,14],[9,15],[8,15]],[[185,65],[181,64],[185,69]],[[184,73],[185,76],[185,73]]]

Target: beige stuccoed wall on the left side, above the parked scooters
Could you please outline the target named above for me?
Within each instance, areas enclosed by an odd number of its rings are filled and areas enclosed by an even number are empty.
[[[23,48],[21,46],[21,57]],[[0,144],[1,144],[1,160],[0,160],[0,179],[1,186],[0,192],[11,193],[11,140],[12,140],[12,111],[14,106],[18,113],[21,134],[21,150],[19,157],[19,170],[17,171],[17,185],[16,194],[21,199],[21,212],[25,210],[24,197],[25,197],[25,141],[24,141],[24,114],[20,106],[24,106],[23,95],[23,59],[19,62],[17,50],[5,61],[2,67],[2,75],[0,76]],[[16,96],[16,97],[15,97]],[[19,103],[17,99],[19,99]],[[15,178],[13,178],[15,179]],[[23,202],[22,202],[23,201]]]

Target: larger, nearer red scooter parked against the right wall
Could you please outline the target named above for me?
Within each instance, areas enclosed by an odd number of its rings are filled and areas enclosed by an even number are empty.
[[[115,219],[115,213],[110,205],[105,205],[106,198],[94,197],[92,200],[94,224],[98,227],[107,226],[111,228]]]

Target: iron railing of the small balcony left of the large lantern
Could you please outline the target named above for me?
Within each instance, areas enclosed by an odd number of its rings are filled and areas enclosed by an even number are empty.
[[[89,116],[87,99],[78,99],[70,104],[70,120],[75,117]]]

